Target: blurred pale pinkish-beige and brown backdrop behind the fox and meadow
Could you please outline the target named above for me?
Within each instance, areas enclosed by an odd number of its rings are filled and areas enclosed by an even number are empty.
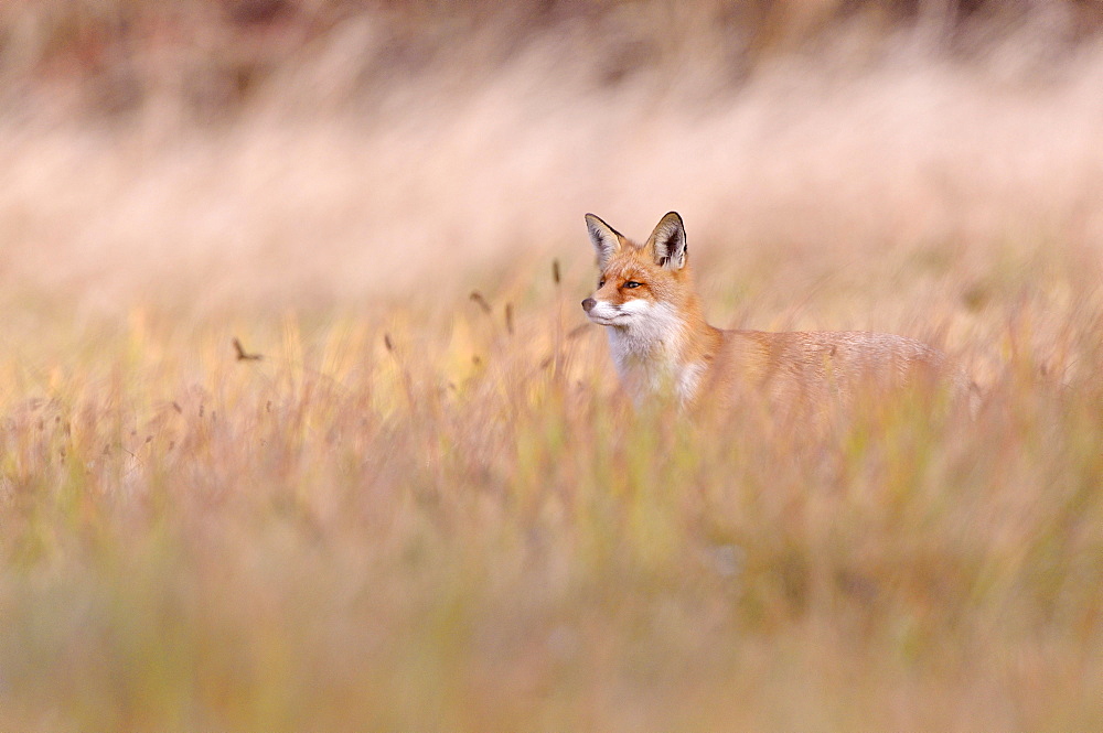
[[[853,280],[868,310],[919,262],[981,302],[994,262],[1097,259],[1101,29],[1094,0],[9,0],[0,284],[355,308],[555,257],[585,292],[583,213],[678,209],[716,298]]]

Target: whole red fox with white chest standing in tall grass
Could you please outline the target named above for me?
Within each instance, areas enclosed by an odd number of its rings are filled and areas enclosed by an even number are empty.
[[[942,352],[913,338],[863,331],[721,331],[705,321],[676,212],[644,245],[586,215],[601,271],[582,310],[606,326],[621,382],[640,402],[655,395],[683,407],[726,403],[738,394],[821,408],[859,389],[945,384],[968,396],[971,380]],[[972,407],[972,406],[971,406]]]

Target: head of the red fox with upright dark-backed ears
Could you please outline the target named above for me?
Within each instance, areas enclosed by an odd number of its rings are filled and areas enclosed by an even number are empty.
[[[590,320],[630,331],[678,321],[693,298],[682,217],[664,216],[643,245],[593,214],[586,215],[586,226],[601,272],[598,289],[582,301]]]

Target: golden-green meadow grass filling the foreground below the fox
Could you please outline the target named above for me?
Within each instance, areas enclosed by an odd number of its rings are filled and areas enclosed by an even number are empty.
[[[817,436],[633,412],[506,295],[9,342],[0,726],[1103,724],[1097,291],[989,305],[977,421]]]

